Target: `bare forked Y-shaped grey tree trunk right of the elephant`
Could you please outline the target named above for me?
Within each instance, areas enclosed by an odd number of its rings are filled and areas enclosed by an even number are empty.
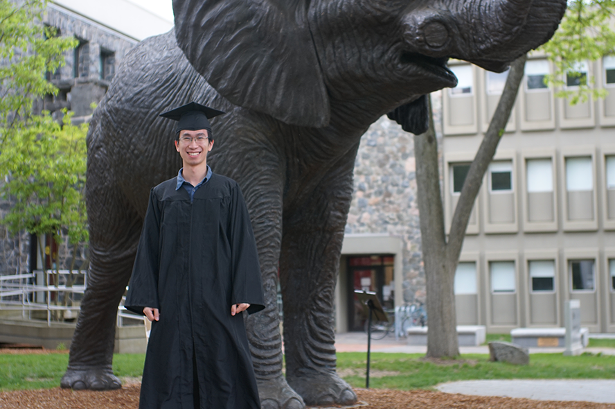
[[[431,102],[429,130],[414,137],[417,201],[422,255],[427,278],[428,357],[454,357],[459,354],[454,295],[455,270],[483,176],[495,155],[512,106],[515,105],[526,59],[527,55],[523,55],[510,67],[506,85],[489,128],[465,178],[452,219],[448,242],[445,235],[438,171],[438,143],[431,115]]]

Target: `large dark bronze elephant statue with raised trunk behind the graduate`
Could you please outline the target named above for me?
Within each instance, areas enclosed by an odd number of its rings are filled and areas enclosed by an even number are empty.
[[[359,139],[383,114],[427,129],[447,60],[503,71],[553,35],[565,0],[174,0],[175,31],[121,62],[87,137],[88,288],[62,387],[113,389],[118,302],[148,193],[177,175],[170,107],[212,120],[208,164],[236,180],[267,307],[247,317],[262,408],[349,404],[336,373],[334,289]],[[283,338],[276,293],[284,303]],[[283,375],[282,339],[285,347]]]

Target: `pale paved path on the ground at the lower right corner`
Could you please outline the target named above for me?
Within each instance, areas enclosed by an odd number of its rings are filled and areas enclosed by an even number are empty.
[[[458,381],[440,384],[436,389],[482,397],[615,403],[615,381],[606,379]]]

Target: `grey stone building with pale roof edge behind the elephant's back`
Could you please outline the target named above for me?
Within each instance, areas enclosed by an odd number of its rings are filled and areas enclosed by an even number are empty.
[[[145,37],[169,31],[173,25],[172,21],[127,0],[55,0],[48,3],[43,24],[55,27],[57,35],[75,37],[79,45],[66,52],[63,67],[55,73],[46,73],[47,79],[60,91],[37,101],[34,109],[37,112],[48,110],[60,119],[60,110],[68,108],[75,113],[74,123],[89,121],[92,104],[103,98],[118,62],[128,51]],[[0,201],[0,218],[9,208],[9,202]],[[46,266],[48,257],[37,256],[35,240],[34,236],[25,233],[11,236],[0,226],[0,275],[49,268]],[[57,251],[51,238],[46,238],[45,242],[46,250]],[[60,268],[69,268],[71,253],[64,243],[60,248],[60,254],[64,255]],[[76,267],[85,256],[83,250],[78,252]]]

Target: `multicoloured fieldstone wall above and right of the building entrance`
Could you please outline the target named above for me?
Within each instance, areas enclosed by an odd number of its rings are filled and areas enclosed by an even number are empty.
[[[439,92],[432,94],[431,103],[436,134],[441,142]],[[402,238],[404,301],[425,302],[413,137],[386,116],[373,123],[363,135],[355,162],[355,191],[346,233]],[[440,177],[441,169],[440,160]]]

